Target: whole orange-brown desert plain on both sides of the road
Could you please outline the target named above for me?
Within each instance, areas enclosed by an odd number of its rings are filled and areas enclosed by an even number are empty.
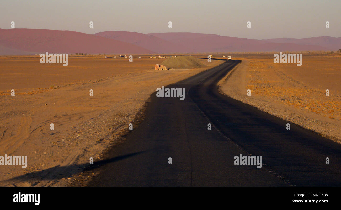
[[[223,62],[201,59],[207,67],[154,71],[164,58],[138,56],[132,63],[70,56],[66,67],[40,64],[39,56],[1,56],[0,154],[27,155],[28,167],[2,167],[0,186],[68,185],[90,157],[100,160],[106,148],[124,140],[156,88]],[[243,62],[223,81],[222,93],[340,142],[340,56],[303,55],[302,66],[274,64],[273,54],[231,56]]]

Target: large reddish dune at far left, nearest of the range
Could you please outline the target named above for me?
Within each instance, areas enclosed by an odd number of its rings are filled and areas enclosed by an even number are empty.
[[[20,52],[37,54],[46,51],[49,53],[88,54],[154,53],[131,43],[93,34],[46,29],[2,29],[0,30],[0,46],[1,54],[19,54]]]

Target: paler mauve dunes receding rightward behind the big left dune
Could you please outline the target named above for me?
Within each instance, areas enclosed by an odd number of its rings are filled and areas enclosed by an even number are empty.
[[[154,33],[141,34],[122,31],[100,32],[96,35],[112,39],[122,40],[146,49],[160,53],[214,53],[214,52],[256,52],[256,51],[314,51],[314,50],[337,50],[339,38],[332,40],[329,45],[320,45],[316,40],[285,42],[285,40],[257,40],[247,38],[237,38],[229,36],[220,36],[217,34],[199,34],[199,33]],[[134,36],[132,36],[134,35]],[[334,38],[334,37],[332,37]],[[311,39],[311,38],[307,38]],[[321,39],[323,39],[321,37]],[[146,40],[149,40],[147,42]],[[165,42],[167,41],[167,42]]]

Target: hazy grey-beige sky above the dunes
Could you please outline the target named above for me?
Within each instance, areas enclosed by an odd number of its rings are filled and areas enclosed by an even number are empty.
[[[0,0],[0,28],[195,32],[254,39],[341,37],[341,0]],[[94,28],[89,28],[89,22]],[[168,28],[172,21],[173,28]],[[248,29],[247,21],[251,21]],[[330,22],[330,28],[325,22]]]

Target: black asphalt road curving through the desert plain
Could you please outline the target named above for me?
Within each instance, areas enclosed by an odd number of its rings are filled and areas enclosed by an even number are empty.
[[[185,88],[184,100],[153,93],[88,186],[341,186],[340,144],[218,92],[239,62],[168,86]],[[234,165],[239,154],[262,156],[262,168]]]

